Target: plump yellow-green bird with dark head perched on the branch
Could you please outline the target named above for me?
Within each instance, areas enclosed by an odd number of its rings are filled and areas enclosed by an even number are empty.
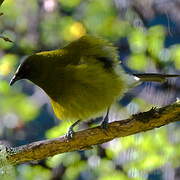
[[[18,67],[10,85],[29,79],[50,97],[55,115],[74,124],[100,117],[140,81],[161,82],[180,75],[126,74],[119,65],[117,49],[106,40],[85,35],[62,49],[29,56]],[[106,127],[105,116],[102,127]]]

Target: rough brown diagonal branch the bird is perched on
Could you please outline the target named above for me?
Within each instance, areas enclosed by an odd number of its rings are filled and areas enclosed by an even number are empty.
[[[107,130],[103,130],[98,126],[79,131],[69,141],[62,136],[15,148],[6,147],[7,160],[10,164],[20,164],[45,159],[64,152],[86,150],[91,148],[92,145],[102,144],[117,137],[151,130],[175,121],[180,121],[180,102],[163,108],[151,109],[123,121],[112,122]]]

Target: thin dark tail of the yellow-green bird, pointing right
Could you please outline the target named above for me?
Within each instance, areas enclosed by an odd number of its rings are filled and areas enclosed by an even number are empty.
[[[140,81],[151,82],[165,82],[168,78],[180,77],[180,74],[157,74],[157,73],[145,73],[145,74],[133,74],[139,78]]]

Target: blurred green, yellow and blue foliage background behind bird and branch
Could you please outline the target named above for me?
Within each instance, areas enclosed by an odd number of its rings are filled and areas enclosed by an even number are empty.
[[[89,33],[118,47],[128,73],[180,72],[178,0],[5,0],[0,12],[1,144],[19,146],[57,137],[70,125],[56,119],[48,97],[31,82],[9,86],[27,55],[61,48]],[[143,83],[120,100],[122,108],[112,119],[170,104],[177,97],[178,79]],[[179,180],[180,124],[17,165],[7,172],[1,169],[1,175],[5,180]]]

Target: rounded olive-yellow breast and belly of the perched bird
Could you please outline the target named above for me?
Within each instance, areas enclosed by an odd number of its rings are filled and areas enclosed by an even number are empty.
[[[46,88],[56,116],[61,120],[86,120],[102,115],[124,92],[119,74],[98,65],[69,65]]]

